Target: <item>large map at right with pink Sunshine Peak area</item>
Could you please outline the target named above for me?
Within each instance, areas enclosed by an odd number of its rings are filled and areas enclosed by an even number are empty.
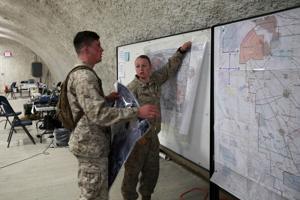
[[[300,199],[300,9],[214,31],[211,181],[240,199]]]

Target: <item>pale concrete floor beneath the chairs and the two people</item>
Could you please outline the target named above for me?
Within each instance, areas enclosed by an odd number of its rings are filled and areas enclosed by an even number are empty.
[[[15,111],[22,111],[22,117],[23,104],[29,101],[29,97],[20,98],[19,93],[16,93],[16,97],[17,99],[8,97],[8,101]],[[77,199],[80,193],[77,186],[77,159],[67,147],[56,147],[49,134],[46,134],[40,143],[40,138],[35,135],[42,130],[36,129],[35,122],[27,128],[36,145],[22,128],[17,127],[17,133],[13,133],[9,148],[7,137],[10,125],[4,129],[5,122],[0,123],[0,199]],[[120,187],[123,175],[124,169],[113,184],[109,199],[122,199]],[[173,160],[166,161],[160,158],[160,175],[152,199],[180,199],[182,193],[193,188],[207,190],[206,199],[210,199],[209,181],[206,178]],[[182,199],[204,199],[205,195],[205,191],[196,189],[182,196]],[[237,198],[220,189],[220,199]]]

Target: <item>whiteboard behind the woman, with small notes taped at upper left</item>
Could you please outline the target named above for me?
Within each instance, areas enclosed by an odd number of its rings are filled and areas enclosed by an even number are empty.
[[[135,59],[143,54],[144,48],[163,43],[163,49],[181,47],[185,42],[199,43],[206,40],[206,47],[202,59],[200,79],[196,90],[192,119],[186,142],[177,140],[175,134],[162,130],[159,134],[160,144],[179,154],[190,162],[209,171],[209,132],[210,132],[210,56],[211,29],[201,29],[153,40],[132,43],[117,47],[117,73],[122,84],[129,84],[136,75]]]

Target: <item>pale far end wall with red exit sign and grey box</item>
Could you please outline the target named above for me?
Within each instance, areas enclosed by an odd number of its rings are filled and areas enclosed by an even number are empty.
[[[4,57],[4,52],[9,51],[11,57]],[[48,68],[40,57],[25,46],[12,40],[0,38],[0,89],[3,92],[4,87],[12,82],[28,81],[39,77],[32,76],[32,63],[42,63],[42,82],[46,80]],[[52,75],[49,73],[49,85],[53,82]],[[54,86],[55,87],[55,86]]]

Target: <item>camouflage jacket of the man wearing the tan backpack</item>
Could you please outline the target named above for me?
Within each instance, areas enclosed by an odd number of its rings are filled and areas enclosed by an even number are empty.
[[[88,63],[78,60],[77,65]],[[86,69],[76,70],[70,75],[67,94],[73,118],[76,119],[80,108],[84,111],[72,131],[70,151],[84,157],[108,156],[110,126],[135,119],[137,108],[110,108],[98,79]]]

